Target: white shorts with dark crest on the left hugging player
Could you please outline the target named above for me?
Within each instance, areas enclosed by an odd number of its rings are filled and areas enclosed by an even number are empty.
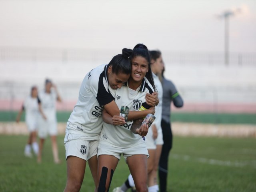
[[[66,159],[68,156],[76,156],[88,161],[97,154],[99,140],[86,140],[85,136],[66,133],[64,138]]]

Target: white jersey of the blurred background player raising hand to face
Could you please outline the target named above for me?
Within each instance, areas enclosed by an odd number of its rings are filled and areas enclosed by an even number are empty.
[[[47,121],[56,122],[56,91],[54,89],[51,89],[50,93],[46,93],[45,90],[42,90],[41,92],[39,92],[38,97],[41,101],[42,111],[44,112]]]

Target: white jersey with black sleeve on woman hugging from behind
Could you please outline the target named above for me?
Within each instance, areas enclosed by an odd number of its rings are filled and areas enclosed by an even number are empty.
[[[103,106],[114,100],[108,90],[107,65],[88,72],[80,86],[78,101],[68,119],[66,132],[88,136],[100,135]]]

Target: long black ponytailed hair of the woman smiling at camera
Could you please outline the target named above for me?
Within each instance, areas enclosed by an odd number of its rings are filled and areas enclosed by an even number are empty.
[[[145,77],[148,79],[150,84],[153,86],[154,91],[156,91],[156,86],[154,83],[154,78],[153,78],[152,70],[150,67],[150,53],[149,53],[146,45],[139,43],[133,48],[132,55],[130,56],[130,58],[132,59],[137,56],[141,56],[141,57],[145,58],[146,61],[148,62],[148,72],[146,73]]]

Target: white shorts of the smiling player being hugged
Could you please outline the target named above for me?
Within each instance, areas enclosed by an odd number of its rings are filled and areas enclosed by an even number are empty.
[[[120,148],[111,146],[108,142],[100,142],[98,146],[98,156],[100,155],[112,155],[120,160],[121,154],[123,154],[126,161],[127,157],[132,155],[143,154],[149,157],[148,150],[145,143],[138,143],[138,145],[130,148]]]

